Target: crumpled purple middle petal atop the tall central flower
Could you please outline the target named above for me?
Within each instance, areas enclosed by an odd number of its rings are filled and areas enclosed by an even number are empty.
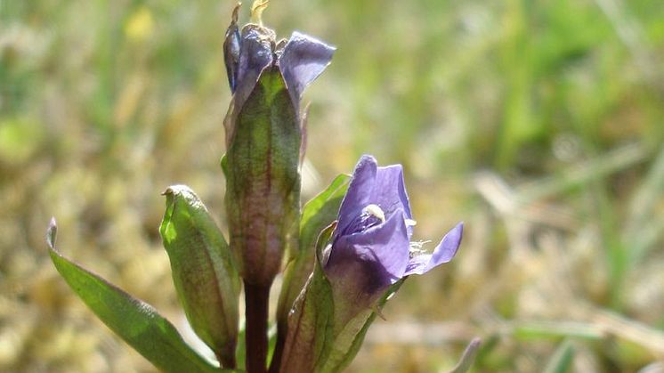
[[[272,63],[274,31],[255,24],[242,28],[239,45],[239,64],[235,87],[235,107],[242,108],[254,90],[258,77]]]

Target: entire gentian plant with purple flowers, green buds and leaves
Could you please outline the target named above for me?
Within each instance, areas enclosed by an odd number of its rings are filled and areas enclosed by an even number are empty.
[[[344,369],[403,281],[449,262],[461,242],[461,223],[431,253],[411,242],[416,222],[401,166],[377,166],[371,156],[360,158],[351,176],[337,176],[301,208],[301,96],[335,48],[297,32],[277,40],[261,23],[266,6],[267,1],[256,1],[252,21],[239,28],[238,4],[223,45],[233,93],[222,158],[229,240],[189,187],[174,185],[163,193],[166,213],[159,233],[174,286],[191,328],[216,361],[187,345],[149,304],[61,255],[54,219],[48,230],[53,264],[69,286],[164,371]],[[277,332],[270,349],[269,294],[279,273]],[[467,369],[476,347],[470,345],[456,371]]]

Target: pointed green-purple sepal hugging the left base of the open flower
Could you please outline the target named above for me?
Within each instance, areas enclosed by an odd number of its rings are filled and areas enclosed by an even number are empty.
[[[334,298],[322,267],[322,256],[335,228],[336,223],[333,223],[320,232],[312,275],[288,315],[286,345],[280,356],[279,371],[315,371],[314,367],[319,361],[326,361],[330,352],[334,337]]]

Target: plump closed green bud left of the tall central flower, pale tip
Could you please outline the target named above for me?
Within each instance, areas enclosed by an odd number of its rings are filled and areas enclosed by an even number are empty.
[[[163,193],[166,213],[159,233],[187,320],[225,368],[235,368],[239,274],[230,247],[206,207],[184,185]]]

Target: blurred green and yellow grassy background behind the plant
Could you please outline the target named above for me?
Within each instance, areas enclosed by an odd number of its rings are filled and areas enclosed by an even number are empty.
[[[183,328],[159,192],[189,184],[225,227],[232,5],[0,0],[0,370],[154,370],[58,277],[52,215],[64,254]],[[304,199],[371,153],[405,166],[416,239],[466,222],[349,371],[444,371],[474,336],[478,372],[664,369],[664,2],[273,0],[263,20],[338,48],[305,95]]]

